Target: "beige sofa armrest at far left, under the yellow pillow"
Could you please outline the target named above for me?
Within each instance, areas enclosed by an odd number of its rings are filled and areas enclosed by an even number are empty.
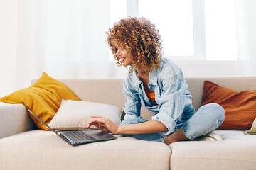
[[[35,128],[25,106],[0,102],[0,139]]]

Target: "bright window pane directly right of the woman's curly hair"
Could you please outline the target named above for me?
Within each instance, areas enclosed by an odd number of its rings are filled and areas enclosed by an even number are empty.
[[[159,29],[164,56],[193,56],[193,11],[191,0],[139,0],[139,16]]]

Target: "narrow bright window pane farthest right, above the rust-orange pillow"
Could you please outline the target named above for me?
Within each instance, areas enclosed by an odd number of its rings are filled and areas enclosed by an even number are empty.
[[[206,0],[206,60],[238,60],[235,1]]]

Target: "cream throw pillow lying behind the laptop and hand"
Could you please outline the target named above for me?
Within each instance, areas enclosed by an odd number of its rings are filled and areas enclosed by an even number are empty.
[[[56,130],[86,130],[90,116],[100,115],[120,124],[122,109],[116,106],[88,101],[62,100],[49,126]],[[96,128],[91,126],[91,128]]]

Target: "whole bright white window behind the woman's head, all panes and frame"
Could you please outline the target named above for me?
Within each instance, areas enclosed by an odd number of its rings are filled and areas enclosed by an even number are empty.
[[[110,27],[127,16],[144,16],[156,25],[164,57],[238,60],[233,0],[110,0]]]

